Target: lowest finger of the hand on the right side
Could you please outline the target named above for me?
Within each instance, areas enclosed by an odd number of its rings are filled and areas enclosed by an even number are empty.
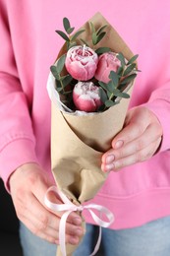
[[[159,144],[160,144],[160,139],[158,139],[156,142],[151,143],[142,151],[136,152],[136,154],[133,154],[131,156],[128,156],[120,160],[115,160],[112,163],[107,165],[102,163],[101,168],[104,172],[116,171],[128,165],[135,164],[137,162],[141,162],[144,160],[148,160],[153,156],[155,149],[158,147]]]

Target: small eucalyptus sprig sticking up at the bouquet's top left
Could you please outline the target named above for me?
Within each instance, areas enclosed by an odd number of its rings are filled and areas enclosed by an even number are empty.
[[[55,32],[57,32],[67,42],[67,48],[70,49],[71,47],[77,45],[76,39],[81,33],[85,32],[85,30],[81,30],[72,34],[75,30],[75,27],[71,27],[70,21],[66,17],[63,19],[63,27],[65,32],[62,32],[62,31],[55,31]]]

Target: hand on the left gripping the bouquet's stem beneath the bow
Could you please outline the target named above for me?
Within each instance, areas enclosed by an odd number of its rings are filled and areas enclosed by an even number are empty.
[[[53,213],[44,205],[47,189],[53,185],[45,171],[35,163],[27,163],[19,167],[9,180],[11,196],[20,221],[28,229],[51,243],[59,242],[58,230],[62,214]],[[56,196],[50,195],[52,202],[62,204]],[[82,220],[72,213],[66,225],[66,242],[77,244],[83,234]]]

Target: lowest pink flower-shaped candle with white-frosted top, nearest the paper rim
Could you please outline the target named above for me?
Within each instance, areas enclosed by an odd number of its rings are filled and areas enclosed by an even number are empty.
[[[73,100],[78,110],[95,112],[102,105],[99,88],[92,82],[79,82],[73,91]]]

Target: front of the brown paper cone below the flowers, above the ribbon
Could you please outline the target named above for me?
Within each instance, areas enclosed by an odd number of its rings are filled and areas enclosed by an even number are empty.
[[[123,98],[88,116],[63,113],[52,103],[52,170],[58,188],[75,204],[91,199],[105,181],[101,156],[122,129],[128,102]]]

